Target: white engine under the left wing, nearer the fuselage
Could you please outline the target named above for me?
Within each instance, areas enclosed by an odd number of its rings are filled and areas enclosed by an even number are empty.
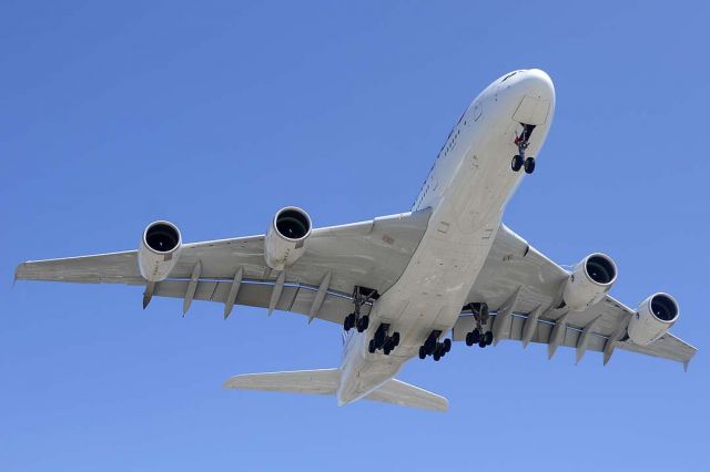
[[[276,212],[264,238],[264,259],[274,270],[284,270],[298,260],[306,250],[311,236],[311,217],[295,206]]]

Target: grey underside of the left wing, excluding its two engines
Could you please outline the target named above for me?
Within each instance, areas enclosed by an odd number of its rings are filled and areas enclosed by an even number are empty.
[[[200,261],[194,300],[225,302],[237,270],[243,281],[236,305],[274,308],[342,322],[352,310],[355,286],[381,294],[400,277],[426,230],[430,209],[378,217],[349,225],[314,229],[304,255],[285,270],[285,283],[272,300],[280,273],[264,263],[264,236],[248,236],[183,246],[168,279],[155,285],[154,296],[183,298]],[[84,284],[145,285],[136,261],[138,252],[27,261],[16,269],[20,280]],[[318,288],[327,281],[325,296],[312,314]]]

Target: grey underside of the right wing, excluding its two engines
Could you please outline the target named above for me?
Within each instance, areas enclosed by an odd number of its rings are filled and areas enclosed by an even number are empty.
[[[467,300],[486,301],[494,311],[489,324],[496,341],[547,343],[549,357],[559,346],[570,347],[577,350],[577,361],[591,350],[604,352],[606,363],[619,348],[688,366],[696,348],[670,332],[649,346],[628,340],[627,326],[636,310],[610,296],[584,311],[557,308],[568,276],[567,270],[501,225]],[[474,318],[462,314],[454,339],[465,339],[474,327]]]

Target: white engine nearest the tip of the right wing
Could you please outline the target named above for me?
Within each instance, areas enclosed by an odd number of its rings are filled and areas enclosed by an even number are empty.
[[[639,346],[647,346],[660,338],[678,319],[678,304],[668,294],[655,294],[641,301],[629,321],[629,338]]]

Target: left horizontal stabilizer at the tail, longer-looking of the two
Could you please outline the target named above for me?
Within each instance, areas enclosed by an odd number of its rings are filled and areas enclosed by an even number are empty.
[[[291,372],[245,373],[224,382],[235,390],[333,394],[341,381],[339,369],[294,370]]]

